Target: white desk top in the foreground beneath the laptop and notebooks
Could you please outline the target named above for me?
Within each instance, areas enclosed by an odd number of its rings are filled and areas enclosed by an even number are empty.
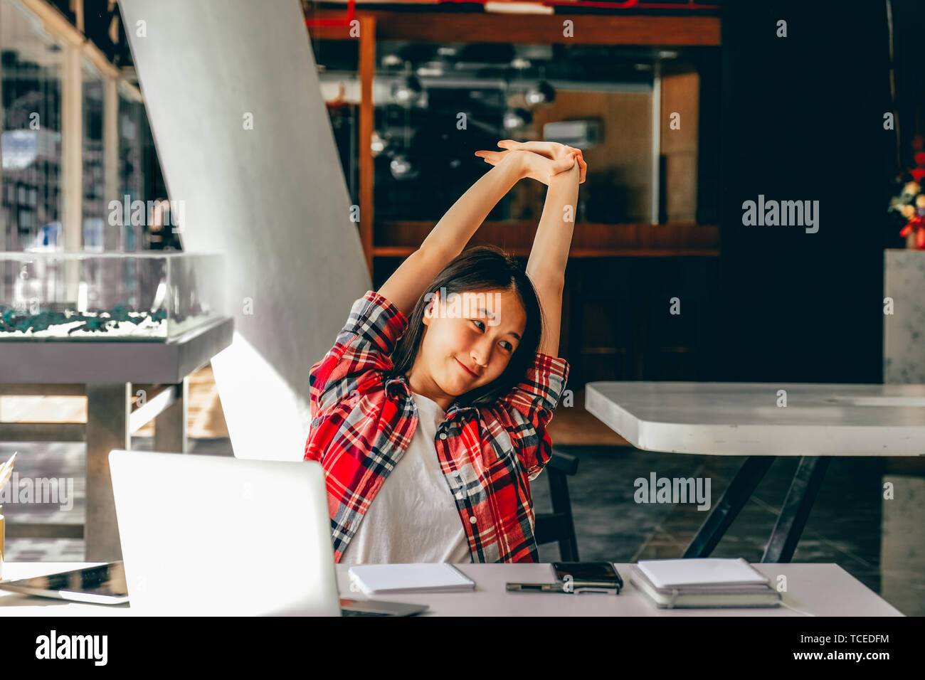
[[[90,563],[6,563],[6,579],[55,574]],[[548,563],[526,564],[459,564],[475,580],[475,592],[443,593],[423,596],[376,596],[373,600],[420,602],[430,605],[430,615],[444,616],[800,616],[776,607],[772,609],[691,609],[660,610],[629,583],[629,565],[617,564],[626,587],[620,595],[589,593],[509,593],[508,581],[548,582],[552,567]],[[787,577],[783,600],[791,607],[817,616],[902,616],[870,588],[837,564],[755,564],[771,579]],[[349,567],[337,565],[341,597],[366,599],[361,592],[351,592]],[[2,616],[127,616],[129,605],[115,607],[34,598],[0,590]]]

